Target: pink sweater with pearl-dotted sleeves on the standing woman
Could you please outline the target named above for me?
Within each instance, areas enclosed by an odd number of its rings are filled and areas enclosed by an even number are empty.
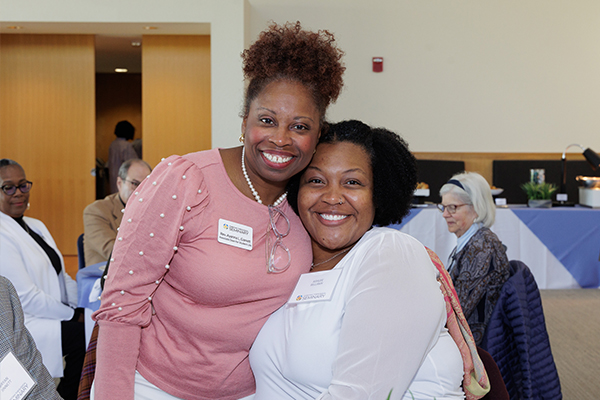
[[[161,162],[129,199],[102,306],[96,399],[133,399],[134,375],[185,399],[254,392],[248,351],[308,272],[310,239],[287,201],[292,264],[268,274],[266,206],[241,194],[217,149]],[[253,229],[252,250],[219,243],[219,219]]]

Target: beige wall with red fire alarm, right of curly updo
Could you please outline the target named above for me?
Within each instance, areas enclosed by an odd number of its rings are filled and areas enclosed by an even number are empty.
[[[389,127],[414,151],[600,151],[597,0],[250,4],[251,39],[269,20],[335,33],[348,69],[332,120]]]

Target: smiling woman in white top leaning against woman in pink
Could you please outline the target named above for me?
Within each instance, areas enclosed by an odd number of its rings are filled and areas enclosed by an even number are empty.
[[[288,197],[313,266],[250,351],[254,400],[464,399],[427,251],[372,227],[400,221],[415,185],[414,157],[394,133],[346,121],[323,134]]]

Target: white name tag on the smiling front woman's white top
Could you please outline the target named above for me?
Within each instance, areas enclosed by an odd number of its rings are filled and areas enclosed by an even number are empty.
[[[341,274],[341,269],[331,269],[300,275],[288,304],[331,300]]]

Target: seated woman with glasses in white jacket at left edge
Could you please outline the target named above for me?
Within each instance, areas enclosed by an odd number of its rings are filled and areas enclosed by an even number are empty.
[[[32,185],[21,165],[0,160],[0,275],[17,290],[44,365],[52,377],[63,377],[59,394],[74,400],[85,355],[83,309],[76,308],[77,284],[52,235],[42,221],[23,216]]]

